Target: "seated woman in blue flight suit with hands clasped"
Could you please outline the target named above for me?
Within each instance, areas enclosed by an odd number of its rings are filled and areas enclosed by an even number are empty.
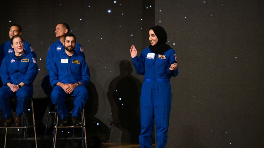
[[[33,95],[33,81],[38,73],[36,58],[24,50],[23,39],[19,35],[11,38],[14,53],[6,56],[0,68],[3,87],[0,88],[0,109],[5,115],[4,127],[21,126],[21,115],[26,110]],[[17,97],[15,120],[12,116],[8,99]]]

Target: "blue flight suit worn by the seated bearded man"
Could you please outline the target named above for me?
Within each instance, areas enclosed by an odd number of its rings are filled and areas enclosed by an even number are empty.
[[[56,84],[58,82],[64,84],[81,82],[83,84],[76,87],[73,94],[71,94],[74,97],[72,115],[73,117],[80,117],[84,105],[88,100],[86,86],[90,82],[89,68],[85,59],[77,55],[76,52],[69,58],[64,49],[61,54],[57,54],[56,57],[52,58],[49,75],[50,84],[53,87],[50,98],[52,103],[57,107],[57,111],[62,120],[69,116],[69,111],[65,104],[65,97],[69,94],[66,94],[63,88],[56,86]]]

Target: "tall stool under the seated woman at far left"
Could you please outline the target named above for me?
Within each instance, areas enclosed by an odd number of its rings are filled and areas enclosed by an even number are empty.
[[[9,100],[17,100],[17,98],[16,97],[12,97]],[[30,101],[31,101],[32,120],[33,120],[33,125],[32,126],[27,126],[26,125],[26,115],[25,115],[26,113],[25,112],[23,112],[23,125],[22,125],[22,127],[1,127],[1,125],[0,125],[0,129],[5,129],[5,146],[6,146],[7,129],[23,128],[24,129],[24,136],[25,136],[25,140],[26,140],[26,146],[25,147],[28,147],[27,146],[27,128],[34,127],[36,148],[38,147],[37,146],[36,125],[35,125],[35,117],[34,117],[34,108],[33,108],[33,100],[32,100],[32,97],[31,97]],[[1,117],[2,117],[2,112],[0,113],[0,119],[1,119]],[[5,148],[5,146],[4,146],[4,148]]]

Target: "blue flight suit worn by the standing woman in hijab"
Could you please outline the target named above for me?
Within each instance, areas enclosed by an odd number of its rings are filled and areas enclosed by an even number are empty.
[[[168,140],[169,117],[171,111],[170,78],[178,75],[178,67],[171,71],[169,67],[176,63],[176,54],[169,49],[164,54],[154,54],[144,49],[139,58],[132,58],[136,73],[144,75],[140,96],[140,148],[152,148],[154,118],[156,124],[157,147],[163,148]]]

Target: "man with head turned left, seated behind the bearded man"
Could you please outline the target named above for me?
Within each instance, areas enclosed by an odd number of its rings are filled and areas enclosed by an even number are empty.
[[[66,23],[59,23],[56,26],[55,35],[57,38],[59,38],[59,40],[54,42],[53,44],[51,44],[49,46],[48,54],[46,57],[46,67],[47,67],[48,71],[50,71],[50,63],[52,62],[52,58],[56,57],[57,54],[59,54],[59,53],[61,53],[61,51],[65,50],[64,45],[63,45],[63,37],[64,37],[64,35],[69,33],[69,31],[70,31],[69,25],[67,25]],[[84,53],[83,53],[83,48],[77,42],[76,42],[76,46],[74,48],[74,51],[77,55],[80,55],[83,58],[85,58]],[[41,87],[44,90],[44,93],[47,96],[50,96],[50,93],[52,91],[52,87],[49,83],[49,74],[47,74],[43,78]]]

